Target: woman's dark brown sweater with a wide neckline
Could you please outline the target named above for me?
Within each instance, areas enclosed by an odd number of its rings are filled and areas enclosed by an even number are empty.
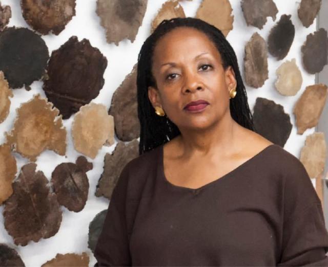
[[[321,202],[302,163],[270,145],[198,189],[163,172],[163,146],[122,170],[95,266],[328,266]]]

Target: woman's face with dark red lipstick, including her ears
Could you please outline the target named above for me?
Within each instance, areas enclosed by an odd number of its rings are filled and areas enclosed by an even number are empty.
[[[154,48],[152,74],[157,88],[148,87],[149,99],[180,130],[207,128],[230,116],[234,72],[230,66],[223,69],[221,56],[206,34],[179,27],[162,36]],[[197,100],[208,104],[185,108]]]

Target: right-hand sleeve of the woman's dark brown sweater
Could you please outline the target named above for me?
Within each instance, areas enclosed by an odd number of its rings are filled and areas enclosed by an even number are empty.
[[[277,266],[328,266],[328,232],[320,199],[303,164],[297,159],[289,167]]]

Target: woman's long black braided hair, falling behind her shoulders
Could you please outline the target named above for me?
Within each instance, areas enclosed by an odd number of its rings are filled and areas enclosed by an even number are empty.
[[[162,20],[154,32],[142,44],[137,64],[137,101],[140,122],[139,154],[165,144],[180,135],[178,127],[167,117],[155,114],[148,98],[148,86],[157,88],[152,75],[152,57],[158,39],[177,27],[192,27],[206,34],[219,51],[223,69],[231,66],[236,77],[236,97],[230,101],[231,117],[241,126],[255,130],[252,114],[248,105],[247,93],[243,84],[236,54],[222,32],[211,24],[198,18],[172,18]]]

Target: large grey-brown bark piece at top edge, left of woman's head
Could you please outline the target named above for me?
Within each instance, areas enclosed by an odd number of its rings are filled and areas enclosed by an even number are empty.
[[[97,0],[96,13],[106,30],[108,43],[128,38],[135,40],[144,19],[148,0]]]

